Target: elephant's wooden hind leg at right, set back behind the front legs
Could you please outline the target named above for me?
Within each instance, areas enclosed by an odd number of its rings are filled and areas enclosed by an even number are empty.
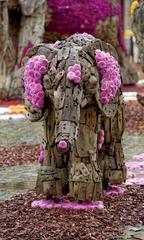
[[[126,167],[122,147],[124,129],[124,109],[119,106],[114,117],[106,117],[104,122],[105,142],[99,151],[98,163],[103,173],[103,185],[121,184],[126,180]]]

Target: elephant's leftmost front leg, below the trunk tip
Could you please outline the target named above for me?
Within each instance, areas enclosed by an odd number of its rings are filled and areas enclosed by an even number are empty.
[[[55,155],[54,150],[45,151],[44,164],[40,167],[37,177],[37,193],[47,198],[59,198],[68,193],[66,156]]]

